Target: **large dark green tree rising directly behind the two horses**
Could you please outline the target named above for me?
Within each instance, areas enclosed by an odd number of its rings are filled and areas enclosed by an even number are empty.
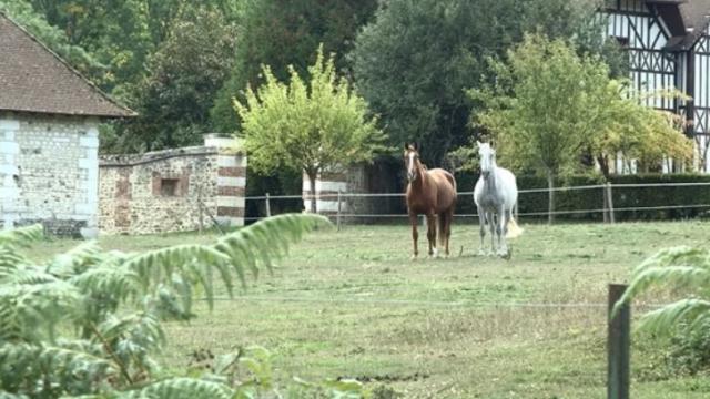
[[[480,84],[485,59],[503,57],[526,31],[574,38],[602,52],[596,1],[390,0],[358,34],[355,81],[387,125],[392,144],[418,141],[440,164],[467,143],[471,104],[465,89]],[[612,49],[605,53],[612,54]]]

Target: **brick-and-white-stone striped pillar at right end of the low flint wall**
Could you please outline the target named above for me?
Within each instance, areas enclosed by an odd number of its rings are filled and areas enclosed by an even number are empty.
[[[217,149],[216,219],[226,226],[244,225],[246,154],[235,139],[207,134],[204,145]]]

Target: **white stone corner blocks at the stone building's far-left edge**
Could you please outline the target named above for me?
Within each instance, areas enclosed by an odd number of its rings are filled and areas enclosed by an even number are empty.
[[[19,130],[20,121],[0,119],[0,217],[4,228],[12,228],[19,218],[17,205],[20,193],[16,182],[20,154],[16,134]]]

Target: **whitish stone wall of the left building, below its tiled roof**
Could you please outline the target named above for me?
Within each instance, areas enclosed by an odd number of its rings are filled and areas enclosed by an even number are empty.
[[[0,113],[0,217],[91,237],[98,227],[99,120]]]

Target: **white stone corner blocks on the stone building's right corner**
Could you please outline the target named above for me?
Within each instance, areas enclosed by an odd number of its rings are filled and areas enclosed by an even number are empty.
[[[85,133],[79,137],[82,157],[79,158],[79,182],[82,201],[74,205],[75,215],[72,218],[87,221],[81,228],[84,238],[95,238],[99,235],[99,130],[91,124]]]

